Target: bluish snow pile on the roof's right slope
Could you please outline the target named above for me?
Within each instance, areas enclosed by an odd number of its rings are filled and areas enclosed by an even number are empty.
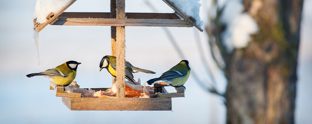
[[[199,17],[199,7],[202,4],[199,3],[199,0],[169,0],[172,4],[178,7],[185,15],[192,16],[196,19],[195,23],[201,27],[203,21]]]

